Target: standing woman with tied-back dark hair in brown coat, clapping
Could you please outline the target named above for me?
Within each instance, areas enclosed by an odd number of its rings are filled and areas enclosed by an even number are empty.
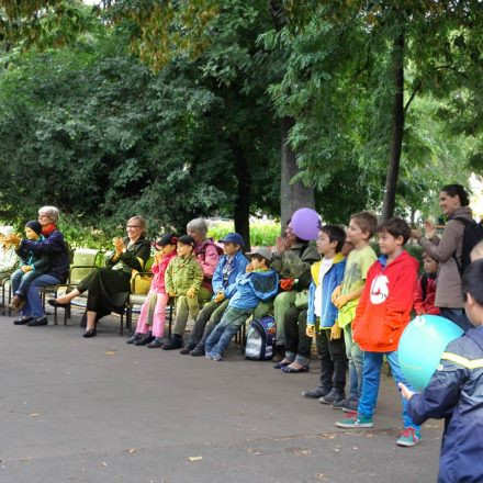
[[[448,184],[439,193],[439,206],[448,221],[441,238],[436,235],[436,226],[425,222],[425,235],[413,229],[412,236],[426,252],[439,262],[435,305],[441,317],[449,318],[464,332],[471,323],[464,313],[461,295],[461,255],[463,249],[464,221],[472,222],[470,200],[461,184]]]

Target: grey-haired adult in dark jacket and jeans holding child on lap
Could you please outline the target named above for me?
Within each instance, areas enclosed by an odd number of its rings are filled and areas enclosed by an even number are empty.
[[[43,206],[38,210],[38,222],[42,225],[42,240],[21,239],[18,235],[11,235],[9,239],[18,249],[31,250],[35,255],[47,255],[49,270],[37,277],[29,287],[25,294],[25,305],[22,317],[13,323],[15,325],[47,325],[48,321],[42,306],[40,288],[65,283],[69,274],[69,254],[64,235],[57,228],[59,211],[55,206]]]

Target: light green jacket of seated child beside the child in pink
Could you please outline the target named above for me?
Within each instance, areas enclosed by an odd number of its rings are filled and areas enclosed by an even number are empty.
[[[175,257],[166,269],[166,293],[175,293],[176,296],[186,295],[190,288],[199,292],[202,281],[203,269],[194,256]]]

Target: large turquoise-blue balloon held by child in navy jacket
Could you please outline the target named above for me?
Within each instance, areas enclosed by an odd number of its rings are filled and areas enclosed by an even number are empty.
[[[437,315],[418,315],[409,322],[397,351],[401,370],[416,391],[428,385],[446,346],[462,335],[458,325]]]

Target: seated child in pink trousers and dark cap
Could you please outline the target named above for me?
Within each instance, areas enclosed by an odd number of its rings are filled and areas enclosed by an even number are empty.
[[[151,267],[153,281],[149,293],[141,307],[136,332],[133,337],[126,340],[126,344],[147,346],[149,349],[162,347],[166,305],[169,301],[165,288],[165,273],[169,262],[176,257],[177,243],[178,238],[173,233],[166,234],[156,243],[156,248],[159,248],[159,251],[156,252]]]

